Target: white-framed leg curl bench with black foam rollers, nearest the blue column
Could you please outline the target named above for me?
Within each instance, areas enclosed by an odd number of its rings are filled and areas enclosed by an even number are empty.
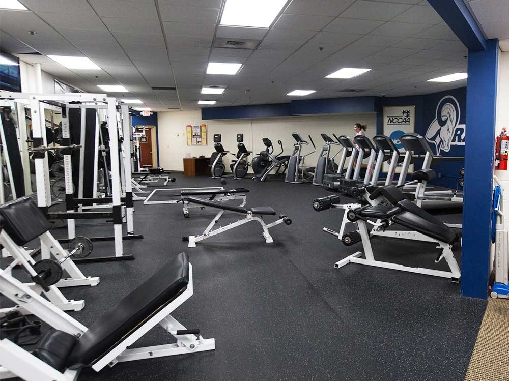
[[[403,192],[394,185],[388,185],[376,189],[371,194],[371,197],[373,197],[373,199],[384,197],[389,204],[377,204],[375,206],[349,204],[345,208],[344,205],[339,204],[339,197],[335,195],[318,198],[313,201],[313,208],[316,211],[323,211],[326,209],[345,209],[347,219],[350,222],[357,224],[356,231],[345,233],[342,236],[340,236],[340,233],[338,232],[326,227],[323,228],[326,233],[341,239],[346,246],[362,242],[362,246],[364,248],[365,258],[360,258],[362,252],[357,251],[354,254],[337,261],[335,263],[336,269],[347,265],[347,263],[353,262],[361,265],[449,278],[451,282],[460,281],[460,268],[454,257],[453,251],[451,250],[451,247],[459,239],[459,236],[453,229],[418,207],[412,201],[408,200]],[[374,219],[376,222],[373,222],[370,219]],[[374,226],[371,232],[367,228],[367,224]],[[439,249],[439,252],[435,259],[435,263],[438,263],[441,259],[445,259],[450,271],[409,267],[398,263],[375,260],[370,238],[378,235],[376,234],[377,231],[382,233],[380,236],[386,236],[383,232],[393,232],[392,230],[385,230],[393,224],[402,225],[410,230],[394,231],[394,235],[390,235],[388,237],[436,243],[438,245],[437,249]]]

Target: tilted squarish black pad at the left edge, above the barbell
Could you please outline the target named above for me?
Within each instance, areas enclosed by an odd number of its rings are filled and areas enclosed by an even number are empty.
[[[0,206],[4,230],[18,246],[23,246],[49,230],[51,224],[30,197],[21,197]]]

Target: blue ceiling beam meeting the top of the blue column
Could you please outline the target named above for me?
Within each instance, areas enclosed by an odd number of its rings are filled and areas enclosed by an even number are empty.
[[[486,38],[463,0],[428,0],[468,50],[486,49]]]

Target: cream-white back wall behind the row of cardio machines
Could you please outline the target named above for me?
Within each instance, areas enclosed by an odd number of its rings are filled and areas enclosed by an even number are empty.
[[[207,125],[208,145],[187,145],[186,125],[202,123]],[[268,137],[274,145],[275,153],[279,152],[277,140],[281,140],[285,155],[290,155],[295,143],[292,133],[298,132],[304,140],[309,140],[307,135],[311,135],[315,141],[317,152],[306,157],[305,162],[306,166],[315,166],[318,153],[323,145],[320,133],[326,133],[331,137],[333,133],[337,136],[344,134],[353,137],[355,135],[353,131],[355,123],[368,125],[367,136],[373,137],[376,135],[376,113],[202,121],[201,110],[158,112],[160,165],[167,170],[183,170],[182,159],[187,153],[196,157],[200,155],[210,157],[214,151],[212,140],[214,134],[222,135],[222,145],[225,150],[231,153],[237,152],[236,136],[238,133],[243,133],[244,144],[249,151],[256,153],[265,150],[262,138]],[[303,149],[303,153],[306,154],[312,150],[313,146],[309,145]],[[335,152],[337,152],[337,149],[333,150],[333,153]],[[249,160],[252,157],[250,156]],[[230,156],[230,158],[233,158],[233,156]],[[229,165],[227,165],[227,168],[229,169]]]

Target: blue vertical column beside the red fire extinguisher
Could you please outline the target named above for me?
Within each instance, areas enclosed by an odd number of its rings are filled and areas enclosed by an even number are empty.
[[[498,40],[468,52],[461,294],[483,299],[490,271],[497,72]]]

